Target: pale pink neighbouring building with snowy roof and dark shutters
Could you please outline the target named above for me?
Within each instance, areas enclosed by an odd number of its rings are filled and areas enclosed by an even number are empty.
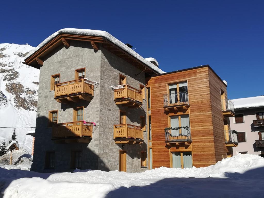
[[[264,96],[234,99],[235,117],[230,118],[232,130],[238,132],[238,147],[234,155],[264,152]]]

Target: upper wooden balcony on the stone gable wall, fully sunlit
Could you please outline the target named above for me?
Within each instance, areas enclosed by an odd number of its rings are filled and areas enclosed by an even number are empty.
[[[55,85],[54,99],[60,103],[79,102],[79,100],[91,101],[93,97],[93,85],[84,79],[68,81]]]

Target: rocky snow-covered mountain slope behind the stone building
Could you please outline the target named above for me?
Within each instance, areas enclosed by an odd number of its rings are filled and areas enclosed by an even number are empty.
[[[0,44],[0,141],[11,139],[17,127],[20,146],[31,152],[36,124],[39,70],[23,64],[25,56],[34,47],[30,45]],[[11,128],[3,128],[11,127]]]

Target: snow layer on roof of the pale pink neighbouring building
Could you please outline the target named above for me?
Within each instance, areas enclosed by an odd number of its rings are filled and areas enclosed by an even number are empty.
[[[233,99],[235,109],[264,107],[264,96]]]

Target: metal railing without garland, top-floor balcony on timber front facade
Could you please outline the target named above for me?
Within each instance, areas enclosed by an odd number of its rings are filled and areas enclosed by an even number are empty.
[[[189,105],[189,95],[187,92],[171,93],[164,95],[164,107],[176,105]]]

